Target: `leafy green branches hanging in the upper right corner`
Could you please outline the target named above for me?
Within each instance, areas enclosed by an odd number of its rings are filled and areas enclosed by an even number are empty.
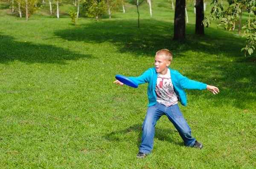
[[[218,3],[219,0],[213,0],[212,10],[207,15],[203,24],[208,28],[211,25],[212,20],[220,20],[219,26],[224,26],[225,30],[231,31],[234,28],[235,23],[238,21],[237,18],[241,15],[242,9],[249,13],[249,19],[244,23],[242,29],[244,34],[242,37],[246,37],[247,45],[241,49],[246,56],[247,52],[249,55],[255,50],[254,45],[256,44],[256,17],[252,17],[251,14],[256,15],[256,0],[227,0],[229,6],[224,10],[223,6]]]

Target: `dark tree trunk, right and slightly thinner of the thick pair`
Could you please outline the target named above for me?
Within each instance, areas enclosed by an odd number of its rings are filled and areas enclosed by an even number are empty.
[[[195,18],[195,34],[204,35],[204,2],[203,0],[196,0],[195,2],[196,18]]]

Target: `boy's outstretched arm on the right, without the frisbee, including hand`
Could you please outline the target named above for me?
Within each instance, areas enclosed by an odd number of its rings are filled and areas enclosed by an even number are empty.
[[[207,85],[202,82],[190,80],[181,74],[179,74],[178,79],[179,79],[181,87],[183,87],[185,89],[198,89],[198,90],[207,89],[210,92],[212,92],[213,94],[219,93],[218,87]]]

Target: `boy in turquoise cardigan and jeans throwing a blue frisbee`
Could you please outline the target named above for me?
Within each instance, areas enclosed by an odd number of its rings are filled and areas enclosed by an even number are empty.
[[[185,89],[207,89],[213,94],[219,93],[215,86],[210,86],[201,82],[189,80],[178,71],[171,70],[169,65],[172,62],[172,53],[167,49],[157,51],[154,68],[149,68],[139,77],[129,77],[138,85],[148,83],[148,110],[143,121],[143,134],[140,150],[137,158],[144,158],[153,148],[154,126],[157,120],[166,115],[174,124],[186,146],[201,149],[203,144],[196,141],[191,135],[191,129],[186,123],[177,101],[186,106],[187,99]],[[113,83],[123,85],[116,80]]]

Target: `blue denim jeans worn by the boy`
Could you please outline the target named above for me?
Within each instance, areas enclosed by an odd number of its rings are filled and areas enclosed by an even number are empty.
[[[191,129],[186,123],[178,104],[167,107],[157,102],[154,106],[148,107],[147,115],[143,122],[142,143],[140,144],[139,152],[144,152],[145,154],[151,152],[154,143],[154,126],[162,115],[166,115],[169,118],[186,146],[195,144],[195,138],[192,138]]]

